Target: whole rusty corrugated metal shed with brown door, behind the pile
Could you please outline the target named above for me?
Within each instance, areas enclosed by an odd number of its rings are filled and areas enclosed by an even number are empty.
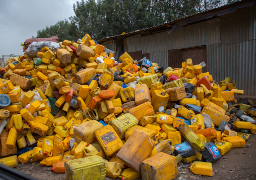
[[[244,95],[256,98],[256,1],[241,1],[98,43],[115,51],[116,59],[127,52],[164,68],[180,68],[187,58],[194,64],[205,61],[203,71],[214,80],[231,77]]]

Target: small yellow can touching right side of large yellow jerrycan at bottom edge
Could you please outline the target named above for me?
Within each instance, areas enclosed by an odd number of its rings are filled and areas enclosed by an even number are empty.
[[[119,162],[109,162],[105,160],[106,165],[106,176],[116,178],[121,174],[123,165]]]

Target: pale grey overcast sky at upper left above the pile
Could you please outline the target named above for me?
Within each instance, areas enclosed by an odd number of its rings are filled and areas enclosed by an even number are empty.
[[[0,57],[23,55],[21,43],[37,31],[74,16],[79,0],[0,0]]]

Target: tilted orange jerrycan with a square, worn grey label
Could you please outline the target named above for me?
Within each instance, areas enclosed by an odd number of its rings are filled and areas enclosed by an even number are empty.
[[[111,158],[111,156],[116,154],[123,146],[123,142],[120,137],[110,125],[106,125],[97,130],[95,135],[107,158]]]

